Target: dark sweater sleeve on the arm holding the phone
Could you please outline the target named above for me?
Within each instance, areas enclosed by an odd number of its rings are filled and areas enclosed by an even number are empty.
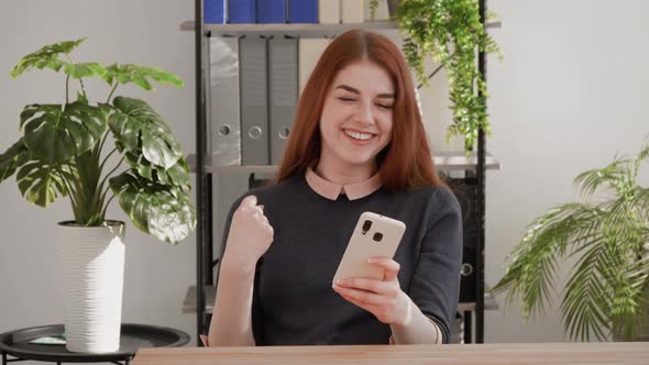
[[[462,214],[453,193],[440,188],[429,207],[430,225],[420,244],[419,258],[410,281],[410,299],[449,342],[455,318],[462,264]]]

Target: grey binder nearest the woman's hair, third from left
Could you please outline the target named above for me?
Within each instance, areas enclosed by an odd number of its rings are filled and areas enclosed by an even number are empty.
[[[271,164],[279,165],[293,126],[299,91],[297,38],[268,41]]]

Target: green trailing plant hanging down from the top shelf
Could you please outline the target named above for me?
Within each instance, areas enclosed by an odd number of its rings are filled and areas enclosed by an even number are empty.
[[[370,0],[372,18],[378,1]],[[391,15],[394,14],[404,36],[404,55],[421,85],[428,85],[437,74],[437,70],[427,73],[428,57],[446,69],[453,113],[447,140],[461,135],[466,152],[473,151],[481,129],[491,134],[484,100],[486,82],[477,69],[476,51],[501,56],[496,42],[481,22],[477,0],[384,1],[388,1]]]

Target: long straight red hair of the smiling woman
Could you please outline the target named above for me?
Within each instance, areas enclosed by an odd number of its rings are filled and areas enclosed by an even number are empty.
[[[415,97],[415,86],[399,48],[381,34],[353,30],[338,36],[322,53],[302,90],[276,181],[305,174],[320,157],[318,123],[324,98],[340,69],[369,59],[391,76],[395,86],[391,143],[376,156],[383,185],[389,191],[443,185],[437,175]]]

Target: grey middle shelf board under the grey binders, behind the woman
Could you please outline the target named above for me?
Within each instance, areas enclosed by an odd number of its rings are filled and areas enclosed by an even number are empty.
[[[460,170],[475,170],[477,166],[477,155],[472,153],[469,157],[463,151],[437,152],[433,153],[435,166],[440,172],[460,172]],[[187,156],[187,164],[189,170],[196,173],[196,155]],[[501,162],[487,153],[485,157],[485,168],[492,170],[501,169]],[[277,165],[262,165],[262,166],[205,166],[205,170],[211,174],[227,174],[227,173],[258,173],[258,174],[275,174],[277,173]]]

